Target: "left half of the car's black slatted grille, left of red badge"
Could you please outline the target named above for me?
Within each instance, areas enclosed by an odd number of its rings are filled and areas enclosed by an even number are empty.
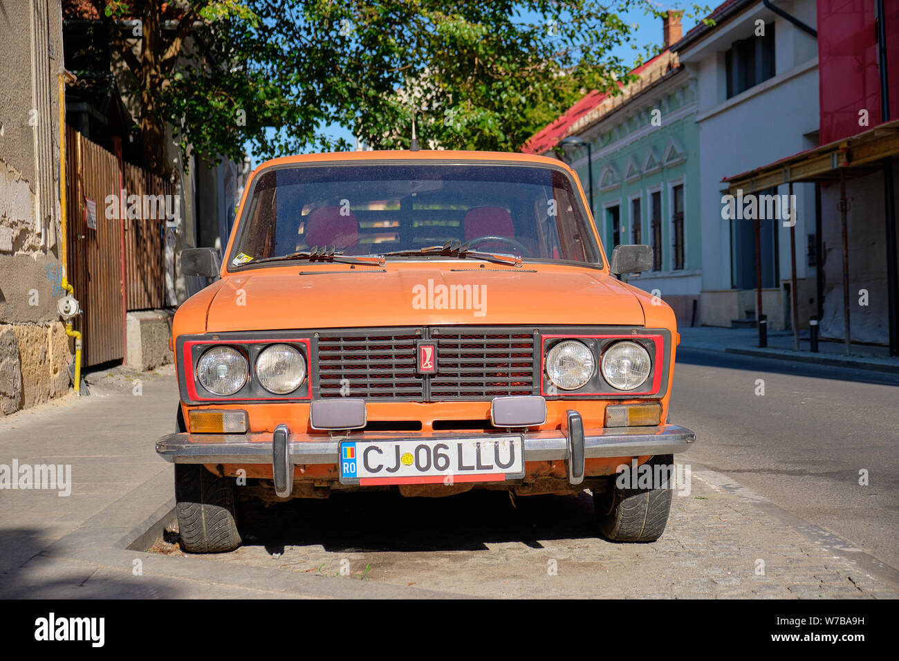
[[[321,397],[424,397],[424,380],[415,372],[414,331],[318,337],[318,388]]]

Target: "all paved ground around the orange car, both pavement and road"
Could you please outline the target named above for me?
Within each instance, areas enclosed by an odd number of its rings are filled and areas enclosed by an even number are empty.
[[[602,540],[587,493],[334,494],[245,505],[241,548],[186,558],[176,533],[161,527],[132,550],[102,541],[114,527],[104,516],[139,523],[137,539],[155,511],[172,506],[171,465],[154,456],[153,442],[171,427],[174,370],[96,372],[91,397],[70,395],[0,427],[0,462],[73,464],[69,497],[4,493],[0,594],[297,595],[291,590],[307,588],[284,587],[289,577],[326,576],[315,589],[344,595],[378,585],[484,597],[899,595],[887,452],[896,377],[689,349],[678,360],[672,422],[690,424],[698,438],[678,457],[690,465],[689,491],[673,497],[655,543]],[[54,452],[62,437],[73,449]],[[16,451],[26,442],[31,451]],[[143,576],[132,576],[137,559]],[[243,578],[251,571],[263,572],[253,589]],[[179,572],[192,581],[175,580]]]

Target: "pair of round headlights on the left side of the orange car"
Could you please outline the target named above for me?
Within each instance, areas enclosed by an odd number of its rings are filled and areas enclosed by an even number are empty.
[[[271,344],[256,358],[255,375],[272,394],[288,395],[306,380],[306,359],[290,344]],[[220,397],[234,395],[249,378],[244,354],[230,346],[214,346],[197,362],[200,385]]]

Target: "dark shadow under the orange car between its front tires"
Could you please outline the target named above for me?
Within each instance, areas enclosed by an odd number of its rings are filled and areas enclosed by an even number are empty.
[[[518,496],[469,491],[443,498],[406,498],[396,492],[334,493],[263,507],[245,505],[244,546],[270,554],[286,546],[321,544],[327,551],[484,550],[516,541],[595,538],[592,497]]]

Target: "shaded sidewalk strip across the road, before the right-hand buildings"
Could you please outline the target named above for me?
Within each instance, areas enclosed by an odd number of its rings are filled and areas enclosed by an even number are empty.
[[[759,347],[759,331],[755,328],[721,328],[717,326],[683,326],[681,349],[699,349],[762,358],[777,358],[796,362],[814,362],[821,365],[850,367],[856,370],[872,370],[899,373],[899,356],[890,357],[886,346],[851,344],[850,355],[845,355],[842,342],[818,342],[818,353],[811,353],[807,333],[800,335],[799,349],[793,351],[792,331],[769,331],[768,346]]]

